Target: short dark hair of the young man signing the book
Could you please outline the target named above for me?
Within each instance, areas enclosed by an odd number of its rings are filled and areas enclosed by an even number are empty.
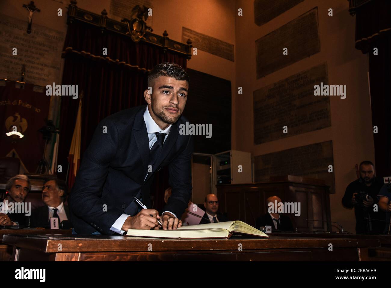
[[[153,67],[148,74],[148,87],[152,87],[156,78],[160,76],[168,76],[171,78],[175,78],[176,80],[185,80],[187,85],[190,83],[190,79],[185,69],[175,63],[164,62]]]

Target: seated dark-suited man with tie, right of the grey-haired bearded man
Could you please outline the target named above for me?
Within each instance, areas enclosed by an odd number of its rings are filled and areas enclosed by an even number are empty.
[[[66,199],[66,184],[60,179],[46,179],[42,187],[42,201],[45,206],[36,208],[30,217],[30,227],[50,228],[50,217],[59,218],[59,223],[69,219]]]

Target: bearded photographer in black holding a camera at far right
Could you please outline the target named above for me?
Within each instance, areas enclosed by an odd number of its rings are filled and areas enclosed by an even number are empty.
[[[371,161],[362,161],[359,169],[360,178],[346,187],[342,204],[346,208],[354,207],[356,234],[382,234],[386,215],[380,209],[373,211],[373,205],[378,204],[377,194],[383,183],[376,178]]]

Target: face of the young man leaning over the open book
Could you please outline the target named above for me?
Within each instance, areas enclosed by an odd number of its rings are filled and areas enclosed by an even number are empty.
[[[188,85],[185,80],[160,76],[154,82],[152,95],[144,92],[145,101],[151,104],[150,114],[159,126],[167,126],[178,121],[185,109]],[[160,122],[160,123],[158,123]]]

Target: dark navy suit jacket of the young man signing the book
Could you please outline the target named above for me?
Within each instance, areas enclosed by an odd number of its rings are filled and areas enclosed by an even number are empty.
[[[144,180],[149,164],[149,138],[143,118],[146,107],[122,110],[98,124],[68,199],[76,233],[114,234],[111,226],[140,190],[143,203],[151,207],[149,190],[154,173],[165,166],[169,167],[172,196],[163,211],[170,211],[180,219],[187,208],[192,193],[194,140],[191,135],[179,134],[179,125],[188,120],[181,116],[172,124],[152,173]],[[107,133],[102,132],[104,126]]]

